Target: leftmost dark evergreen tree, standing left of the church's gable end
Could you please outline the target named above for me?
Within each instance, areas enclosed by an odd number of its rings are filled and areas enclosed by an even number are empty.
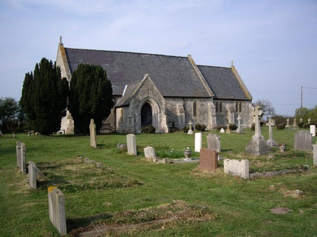
[[[66,116],[68,94],[68,81],[61,79],[56,62],[43,58],[23,82],[21,107],[30,127],[44,135],[57,132]]]

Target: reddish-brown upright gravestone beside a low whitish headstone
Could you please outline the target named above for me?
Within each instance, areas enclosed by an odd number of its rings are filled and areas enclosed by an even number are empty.
[[[202,148],[198,169],[214,172],[218,167],[218,153],[214,150]]]

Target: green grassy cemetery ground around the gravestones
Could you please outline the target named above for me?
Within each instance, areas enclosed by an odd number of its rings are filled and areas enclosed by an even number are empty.
[[[317,167],[312,152],[292,151],[298,130],[276,130],[274,140],[286,144],[273,156],[252,157],[245,147],[254,131],[220,134],[223,158],[249,159],[250,172],[264,172],[309,165],[305,173],[243,180],[223,173],[223,161],[210,174],[198,163],[153,163],[143,148],[154,147],[160,158],[182,158],[182,150],[194,150],[194,135],[183,132],[136,135],[138,156],[120,152],[126,144],[120,134],[99,135],[103,149],[90,147],[89,136],[4,135],[0,139],[0,236],[58,236],[49,220],[48,186],[65,195],[68,235],[97,227],[127,226],[169,220],[134,231],[105,236],[317,236]],[[212,130],[212,133],[217,131]],[[203,133],[207,148],[209,132]],[[268,127],[262,127],[264,139]],[[316,137],[313,143],[316,144]],[[16,167],[15,144],[26,144],[26,160],[34,161],[45,174],[31,190],[27,175]],[[229,151],[229,153],[228,153]],[[102,162],[86,164],[78,156]],[[194,153],[191,157],[198,157]],[[300,190],[302,192],[298,192]],[[287,214],[271,208],[285,207]]]

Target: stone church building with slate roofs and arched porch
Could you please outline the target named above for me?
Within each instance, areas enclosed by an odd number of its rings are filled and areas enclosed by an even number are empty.
[[[182,129],[189,120],[207,129],[237,122],[250,127],[252,96],[233,65],[196,65],[191,55],[66,48],[59,43],[56,64],[62,77],[71,80],[79,64],[100,65],[111,81],[115,106],[105,123],[122,133],[140,133],[152,124],[156,132]],[[73,133],[68,113],[61,130]]]

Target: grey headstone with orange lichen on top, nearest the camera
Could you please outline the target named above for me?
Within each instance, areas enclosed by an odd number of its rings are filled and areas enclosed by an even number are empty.
[[[48,188],[50,221],[60,235],[66,235],[65,196],[54,186]]]

